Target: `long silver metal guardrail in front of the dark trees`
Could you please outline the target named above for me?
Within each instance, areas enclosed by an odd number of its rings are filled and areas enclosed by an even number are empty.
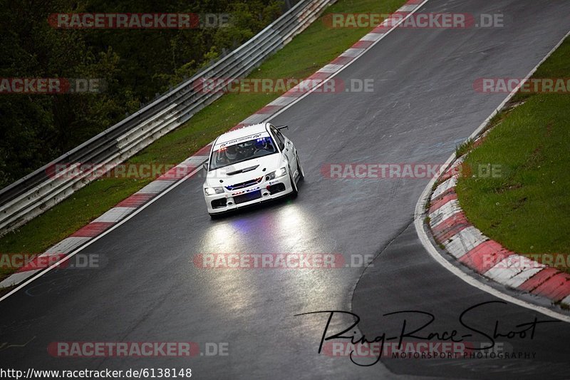
[[[89,163],[110,168],[185,123],[223,95],[197,91],[200,78],[243,78],[272,53],[289,43],[336,0],[301,0],[279,19],[174,90],[61,155],[42,168],[0,190],[0,236],[50,209],[93,180],[92,170],[80,175],[53,175],[59,165]],[[100,168],[99,168],[100,172]],[[65,170],[63,171],[63,174]]]

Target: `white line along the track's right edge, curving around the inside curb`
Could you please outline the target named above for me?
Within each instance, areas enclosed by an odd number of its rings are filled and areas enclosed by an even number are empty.
[[[544,63],[544,61],[546,61],[546,59],[548,59],[549,56],[551,56],[552,53],[554,53],[554,51],[556,51],[557,48],[559,48],[559,46],[564,42],[564,40],[568,36],[570,36],[570,32],[567,33],[566,36],[564,36],[564,38],[562,38],[559,41],[559,43],[557,43],[556,46],[554,46],[554,48],[552,48],[552,50],[549,51],[548,54],[546,54],[546,56],[537,64],[537,66],[534,66],[534,68],[528,73],[527,77],[524,78],[524,81],[522,81],[522,83],[519,83],[519,86],[522,86],[524,83],[528,81],[528,79],[532,76],[532,74],[534,74],[537,71],[539,66],[542,63]],[[484,120],[483,123],[481,123],[481,125],[470,135],[469,138],[476,138],[477,135],[479,135],[481,131],[487,126],[489,121],[492,118],[494,118],[494,115],[497,115],[497,113],[499,113],[499,111],[504,107],[505,104],[507,104],[511,100],[511,98],[517,93],[517,91],[518,88],[514,88],[513,91],[509,93],[509,95],[506,98],[504,98],[504,101],[502,101],[502,103],[499,104],[497,109],[495,109],[495,111],[493,111],[493,113],[491,113],[491,115],[489,115],[489,117],[486,120]],[[454,158],[455,158],[455,153],[452,153],[450,158],[448,158],[447,161],[445,162],[445,166],[452,163]],[[463,272],[460,268],[456,267],[451,262],[447,261],[444,257],[442,257],[440,252],[438,252],[437,249],[432,245],[432,242],[430,241],[430,238],[427,237],[427,233],[425,232],[423,227],[423,215],[425,210],[425,204],[427,203],[427,200],[430,198],[430,191],[436,180],[437,178],[432,178],[430,182],[427,183],[425,189],[422,192],[422,195],[420,196],[420,199],[418,199],[418,203],[415,204],[415,211],[414,211],[415,232],[418,234],[418,237],[420,238],[422,245],[424,246],[425,250],[427,250],[427,252],[431,255],[433,260],[437,261],[442,267],[452,272],[452,274],[455,274],[455,276],[459,277],[464,282],[467,282],[467,284],[470,284],[472,287],[476,287],[477,289],[480,289],[483,292],[492,294],[494,297],[497,297],[499,299],[504,299],[504,301],[511,302],[512,304],[516,304],[517,306],[520,307],[534,310],[535,312],[539,312],[548,317],[559,319],[564,322],[570,322],[570,315],[561,314],[560,312],[556,312],[547,307],[541,307],[536,304],[531,304],[530,302],[523,301],[522,299],[518,299],[517,297],[513,297],[512,295],[500,292],[499,290],[494,289],[494,287],[491,287],[487,284],[484,284],[483,282],[480,282],[479,279],[472,277],[470,274]],[[566,303],[570,302],[570,296],[566,297],[565,300],[567,301]]]

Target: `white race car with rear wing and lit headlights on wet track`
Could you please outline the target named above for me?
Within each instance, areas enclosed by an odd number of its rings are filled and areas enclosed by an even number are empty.
[[[211,217],[287,194],[297,194],[304,178],[291,140],[270,123],[220,135],[207,163],[204,198]]]

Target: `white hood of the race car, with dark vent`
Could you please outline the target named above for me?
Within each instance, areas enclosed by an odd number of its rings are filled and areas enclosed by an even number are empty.
[[[204,186],[213,188],[216,186],[235,185],[262,177],[283,166],[286,166],[286,160],[284,160],[281,153],[252,158],[242,163],[210,170],[206,176]]]

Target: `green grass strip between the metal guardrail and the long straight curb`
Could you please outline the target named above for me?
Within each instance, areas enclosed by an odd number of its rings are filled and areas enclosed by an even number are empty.
[[[388,14],[405,0],[341,0],[328,13]],[[306,78],[336,58],[370,29],[329,29],[315,21],[281,51],[271,56],[250,78]],[[222,96],[177,130],[155,141],[128,163],[180,163],[259,108],[279,93],[231,93]],[[105,178],[78,190],[14,232],[0,238],[1,253],[40,253],[103,214],[150,180]],[[9,271],[0,271],[0,278]]]

